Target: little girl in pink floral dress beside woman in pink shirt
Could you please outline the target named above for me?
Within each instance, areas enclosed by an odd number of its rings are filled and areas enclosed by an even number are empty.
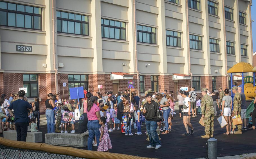
[[[98,146],[98,151],[105,151],[109,152],[109,149],[112,149],[112,144],[107,132],[107,126],[105,125],[106,123],[106,118],[105,117],[100,117],[99,124],[101,125],[100,127],[100,143]]]

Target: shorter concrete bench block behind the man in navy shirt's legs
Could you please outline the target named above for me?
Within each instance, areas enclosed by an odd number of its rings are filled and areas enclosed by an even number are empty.
[[[16,130],[4,131],[4,138],[10,140],[17,140]],[[42,142],[42,132],[28,132],[26,142]]]

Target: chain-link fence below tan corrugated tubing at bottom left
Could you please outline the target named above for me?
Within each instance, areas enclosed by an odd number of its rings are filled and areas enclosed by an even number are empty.
[[[48,153],[30,149],[19,149],[0,144],[0,159],[86,159],[75,156]]]

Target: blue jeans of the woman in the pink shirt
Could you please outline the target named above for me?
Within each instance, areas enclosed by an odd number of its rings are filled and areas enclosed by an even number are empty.
[[[92,150],[93,146],[93,140],[96,136],[96,140],[97,140],[97,145],[100,144],[100,124],[99,124],[99,120],[88,120],[87,123],[87,128],[89,131],[89,137],[88,137],[88,150]]]

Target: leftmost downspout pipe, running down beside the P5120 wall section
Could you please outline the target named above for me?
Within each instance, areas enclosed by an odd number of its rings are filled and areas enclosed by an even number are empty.
[[[55,93],[58,93],[58,67],[57,66],[57,55],[56,55],[56,43],[55,43],[55,3],[52,0],[52,45],[53,45],[53,68],[55,71]]]

